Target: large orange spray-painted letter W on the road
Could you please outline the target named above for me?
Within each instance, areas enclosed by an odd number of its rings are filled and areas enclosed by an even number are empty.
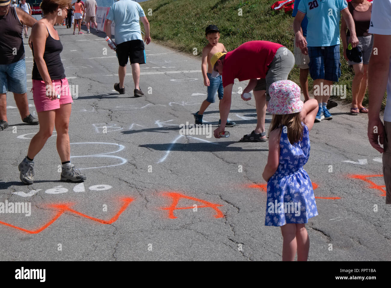
[[[115,214],[115,216],[113,216],[108,221],[102,220],[102,219],[98,219],[98,218],[94,218],[94,217],[88,216],[86,214],[83,214],[83,213],[81,213],[79,211],[76,211],[76,210],[70,208],[70,206],[73,205],[72,203],[63,203],[63,204],[47,205],[48,207],[54,208],[54,209],[58,209],[59,211],[57,212],[57,214],[50,221],[48,221],[45,225],[43,225],[42,227],[40,227],[40,228],[38,228],[36,230],[27,230],[27,229],[24,229],[24,228],[21,228],[21,227],[18,227],[18,226],[14,226],[14,225],[11,225],[9,223],[2,222],[2,221],[0,221],[0,224],[5,225],[5,226],[9,226],[11,228],[15,228],[15,229],[21,230],[23,232],[27,232],[29,234],[38,234],[39,232],[41,232],[41,231],[45,230],[46,228],[48,228],[48,226],[52,225],[54,223],[54,221],[56,221],[66,211],[71,212],[71,213],[76,214],[76,215],[79,215],[81,217],[93,220],[93,221],[97,221],[97,222],[102,223],[102,224],[111,224],[111,223],[114,223],[115,221],[117,221],[118,217],[122,214],[122,212],[124,212],[126,210],[127,206],[129,206],[129,204],[133,200],[134,200],[133,198],[121,198],[121,201],[123,202],[122,207],[117,212],[117,214]]]

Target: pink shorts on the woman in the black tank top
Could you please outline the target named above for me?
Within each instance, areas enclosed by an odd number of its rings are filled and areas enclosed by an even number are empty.
[[[73,103],[72,94],[66,78],[53,80],[56,94],[60,94],[60,99],[50,100],[46,96],[45,81],[32,80],[32,98],[37,112],[59,109],[60,105]]]

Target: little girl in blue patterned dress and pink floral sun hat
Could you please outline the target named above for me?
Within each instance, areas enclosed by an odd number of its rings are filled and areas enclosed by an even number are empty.
[[[290,80],[274,82],[267,112],[273,114],[269,129],[269,156],[262,177],[267,181],[265,225],[280,226],[282,260],[307,261],[310,240],[305,223],[317,216],[314,190],[303,166],[310,155],[308,134],[318,103],[300,100],[300,87]]]

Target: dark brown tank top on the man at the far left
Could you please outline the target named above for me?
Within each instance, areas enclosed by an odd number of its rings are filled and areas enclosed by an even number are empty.
[[[0,16],[0,64],[11,64],[25,58],[23,25],[15,7],[9,7],[5,16]]]

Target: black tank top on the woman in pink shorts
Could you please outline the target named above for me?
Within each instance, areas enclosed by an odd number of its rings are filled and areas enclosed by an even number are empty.
[[[35,24],[34,24],[35,25]],[[46,27],[47,29],[47,27]],[[63,62],[61,62],[60,53],[63,51],[63,45],[60,40],[53,39],[50,36],[48,30],[48,37],[46,38],[45,43],[45,52],[43,53],[43,60],[45,60],[46,67],[48,69],[51,80],[59,80],[65,78],[65,70]],[[34,55],[34,47],[31,47],[32,54]],[[32,67],[32,79],[33,80],[43,80],[39,74],[37,64],[35,63]]]

